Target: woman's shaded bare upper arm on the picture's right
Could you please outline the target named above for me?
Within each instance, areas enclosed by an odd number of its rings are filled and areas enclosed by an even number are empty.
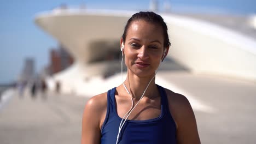
[[[181,94],[172,98],[169,107],[177,125],[177,143],[200,143],[195,115],[188,99]]]

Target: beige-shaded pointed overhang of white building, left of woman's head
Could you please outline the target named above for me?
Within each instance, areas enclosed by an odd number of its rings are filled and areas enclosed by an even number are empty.
[[[55,9],[38,14],[35,22],[65,46],[77,61],[89,63],[108,52],[119,51],[119,41],[130,13]]]

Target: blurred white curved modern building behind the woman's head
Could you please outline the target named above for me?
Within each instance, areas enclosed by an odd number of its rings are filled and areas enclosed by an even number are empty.
[[[94,94],[88,89],[95,86],[104,92],[106,86],[119,85],[120,75],[114,75],[120,72],[119,40],[135,12],[60,8],[38,14],[37,25],[64,45],[75,60],[72,67],[49,79],[51,87],[60,81],[62,92],[88,95]],[[165,68],[256,81],[256,35],[248,37],[193,16],[161,15],[172,44],[171,61]],[[118,81],[106,79],[109,76]]]

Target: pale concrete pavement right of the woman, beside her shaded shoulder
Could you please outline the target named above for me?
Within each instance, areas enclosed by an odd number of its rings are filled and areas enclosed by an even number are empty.
[[[158,76],[213,107],[210,112],[194,110],[201,143],[256,143],[255,82],[170,71],[159,71]]]

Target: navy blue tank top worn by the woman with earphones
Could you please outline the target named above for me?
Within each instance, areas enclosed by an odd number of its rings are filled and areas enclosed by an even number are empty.
[[[176,124],[169,111],[165,89],[158,86],[158,91],[161,95],[160,116],[144,121],[127,120],[121,130],[118,143],[176,143]],[[101,128],[101,143],[115,144],[122,120],[115,109],[115,88],[108,91],[107,101],[107,115]]]

